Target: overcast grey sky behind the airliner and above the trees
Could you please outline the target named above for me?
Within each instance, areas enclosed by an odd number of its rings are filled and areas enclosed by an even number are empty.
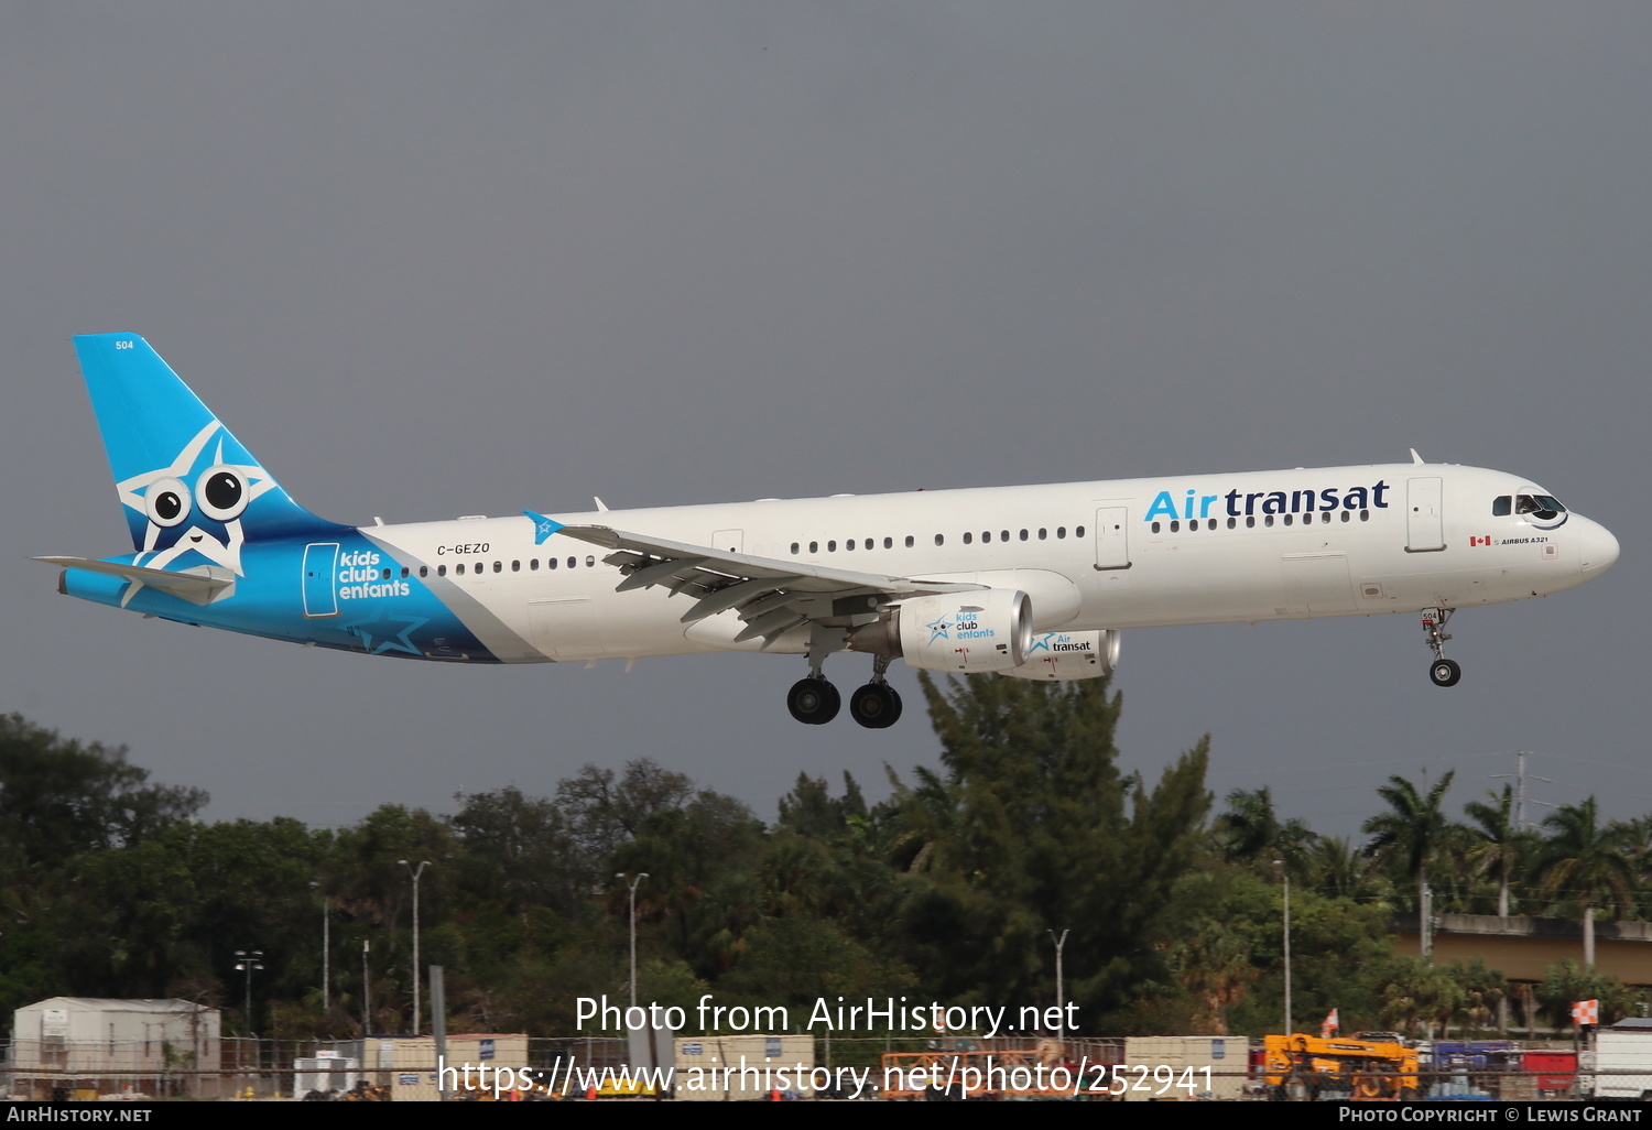
[[[213,818],[548,793],[654,757],[771,819],[796,658],[454,669],[56,596],[127,552],[69,335],[144,334],[345,522],[1406,459],[1531,476],[1622,558],[1462,613],[1127,633],[1123,763],[1213,737],[1353,833],[1452,803],[1652,811],[1639,522],[1645,3],[0,2],[3,709]],[[864,658],[828,664],[839,686]]]

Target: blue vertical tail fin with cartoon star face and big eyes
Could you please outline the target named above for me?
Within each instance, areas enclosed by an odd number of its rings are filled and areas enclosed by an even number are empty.
[[[142,337],[86,334],[74,350],[137,563],[240,572],[243,542],[342,529],[294,502]]]

